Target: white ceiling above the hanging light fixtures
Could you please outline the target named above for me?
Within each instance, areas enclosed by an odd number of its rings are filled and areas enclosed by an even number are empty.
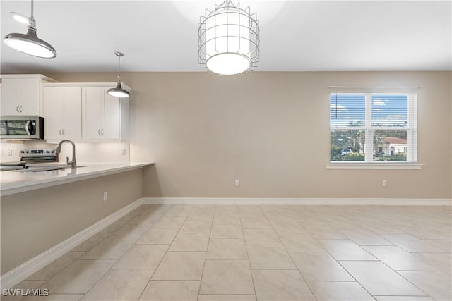
[[[222,0],[216,1],[220,4]],[[237,4],[237,1],[233,1]],[[39,59],[1,43],[1,73],[203,71],[198,22],[215,1],[35,0],[37,35],[57,49]],[[452,1],[240,1],[261,29],[256,71],[452,70]],[[1,35],[25,33],[1,0]]]

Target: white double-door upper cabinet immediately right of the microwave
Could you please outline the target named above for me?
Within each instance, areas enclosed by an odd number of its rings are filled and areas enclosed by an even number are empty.
[[[45,139],[81,141],[81,87],[50,84],[44,87]]]

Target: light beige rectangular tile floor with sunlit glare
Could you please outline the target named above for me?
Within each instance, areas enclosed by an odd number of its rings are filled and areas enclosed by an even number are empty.
[[[451,207],[143,205],[1,300],[452,300]]]

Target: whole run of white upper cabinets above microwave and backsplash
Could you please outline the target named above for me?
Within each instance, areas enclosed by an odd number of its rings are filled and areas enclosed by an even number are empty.
[[[129,140],[129,98],[107,94],[116,82],[62,83],[33,74],[1,79],[1,115],[44,116],[47,142]]]

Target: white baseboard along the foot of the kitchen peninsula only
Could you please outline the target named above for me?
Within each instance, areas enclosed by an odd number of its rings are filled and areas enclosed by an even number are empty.
[[[76,235],[71,236],[63,242],[60,242],[58,245],[51,247],[49,250],[42,252],[36,257],[33,257],[32,259],[28,260],[28,262],[20,264],[20,266],[17,266],[15,269],[8,271],[4,275],[1,275],[1,289],[12,288],[20,281],[23,281],[24,279],[30,277],[32,274],[39,271],[44,266],[47,266],[47,264],[66,254],[66,252],[69,252],[74,247],[77,247],[82,242],[95,235],[95,233],[111,225],[118,219],[121,219],[122,216],[128,214],[133,209],[141,206],[141,204],[143,204],[143,200],[138,199],[136,202],[133,202],[126,207],[119,209],[119,211],[114,212],[114,214],[110,214],[105,219],[98,221],[93,226],[85,228],[84,230],[78,232]]]

